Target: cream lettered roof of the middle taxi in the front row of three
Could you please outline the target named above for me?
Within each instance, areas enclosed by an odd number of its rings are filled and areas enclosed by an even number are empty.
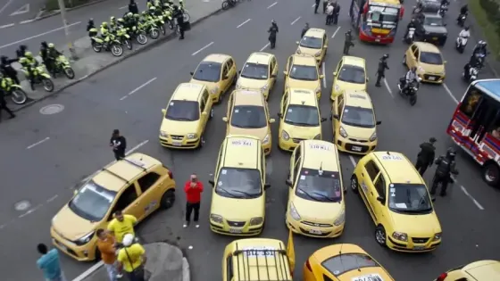
[[[304,154],[303,167],[308,169],[322,169],[338,171],[337,147],[327,141],[308,139],[301,142]]]

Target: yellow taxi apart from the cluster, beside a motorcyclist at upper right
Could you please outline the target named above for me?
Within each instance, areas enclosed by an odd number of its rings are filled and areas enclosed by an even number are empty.
[[[427,42],[415,42],[403,56],[403,64],[409,69],[417,68],[417,75],[422,82],[442,84],[446,78],[446,61],[436,45]]]

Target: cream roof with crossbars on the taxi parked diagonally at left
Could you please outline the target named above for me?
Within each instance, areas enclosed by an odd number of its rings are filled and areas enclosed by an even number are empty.
[[[134,180],[139,174],[158,165],[162,165],[162,162],[151,156],[133,153],[104,167],[92,177],[92,180],[99,186],[119,192],[123,186]]]

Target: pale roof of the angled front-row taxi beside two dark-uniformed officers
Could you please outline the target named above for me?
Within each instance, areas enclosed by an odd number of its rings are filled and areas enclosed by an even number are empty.
[[[424,184],[419,172],[403,153],[373,152],[387,172],[387,178],[393,184]],[[398,158],[395,160],[395,157]]]

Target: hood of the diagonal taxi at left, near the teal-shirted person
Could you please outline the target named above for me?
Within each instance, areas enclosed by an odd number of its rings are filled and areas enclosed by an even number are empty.
[[[54,231],[70,241],[78,240],[92,232],[98,222],[84,219],[64,206],[52,219]]]

